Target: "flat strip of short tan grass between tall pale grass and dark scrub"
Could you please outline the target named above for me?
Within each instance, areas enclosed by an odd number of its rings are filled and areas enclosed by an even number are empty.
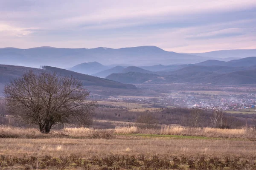
[[[238,140],[202,140],[146,138],[140,136],[117,136],[115,139],[0,139],[0,153],[11,156],[69,156],[84,158],[107,156],[111,154],[148,156],[217,156],[256,157],[255,141]]]

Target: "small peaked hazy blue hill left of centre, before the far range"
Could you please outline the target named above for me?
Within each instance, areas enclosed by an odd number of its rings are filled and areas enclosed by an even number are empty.
[[[75,65],[69,70],[82,74],[95,74],[106,69],[108,69],[108,67],[100,64],[99,62],[84,62],[79,65]]]

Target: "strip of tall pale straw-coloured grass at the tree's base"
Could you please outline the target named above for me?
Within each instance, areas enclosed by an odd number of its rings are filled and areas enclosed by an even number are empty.
[[[22,128],[0,126],[0,138],[113,138],[113,133],[122,134],[158,134],[179,136],[204,136],[228,139],[256,139],[255,129],[218,129],[218,128],[192,128],[175,125],[163,125],[160,129],[145,129],[136,126],[119,127],[115,129],[96,130],[93,128],[68,127],[62,130],[52,130],[49,134],[42,134],[35,128]]]

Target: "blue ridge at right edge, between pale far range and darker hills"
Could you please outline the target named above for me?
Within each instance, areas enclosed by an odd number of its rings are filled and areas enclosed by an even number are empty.
[[[204,62],[199,62],[195,65],[221,65],[221,66],[229,66],[229,67],[250,67],[256,65],[256,57],[246,57],[242,59],[234,59],[228,62],[218,61],[218,60],[207,60]]]

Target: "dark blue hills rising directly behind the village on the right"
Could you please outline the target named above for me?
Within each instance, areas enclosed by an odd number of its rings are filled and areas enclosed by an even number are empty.
[[[111,74],[107,79],[123,83],[192,83],[214,85],[256,84],[256,65],[251,67],[189,65],[185,68],[160,75],[128,72]]]

